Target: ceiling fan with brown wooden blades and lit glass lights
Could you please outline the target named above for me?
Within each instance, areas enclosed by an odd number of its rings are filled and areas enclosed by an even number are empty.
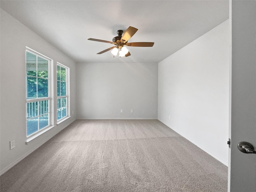
[[[88,40],[91,41],[98,41],[98,42],[104,42],[104,43],[110,43],[114,44],[115,46],[110,47],[108,49],[105,49],[101,52],[98,52],[97,54],[102,54],[107,51],[111,51],[111,53],[116,56],[119,53],[119,57],[123,56],[130,56],[129,50],[126,48],[126,46],[131,46],[131,47],[152,47],[154,45],[154,42],[133,42],[130,43],[128,40],[137,32],[138,29],[134,27],[128,27],[127,30],[123,34],[123,30],[118,30],[117,34],[118,36],[114,37],[111,41],[105,41],[105,40],[100,40],[100,39],[93,39],[89,38]],[[123,34],[123,35],[122,35]]]

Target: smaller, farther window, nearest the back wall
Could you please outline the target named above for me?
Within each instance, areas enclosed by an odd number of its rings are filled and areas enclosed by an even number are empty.
[[[69,68],[57,64],[57,121],[68,116],[68,72]]]

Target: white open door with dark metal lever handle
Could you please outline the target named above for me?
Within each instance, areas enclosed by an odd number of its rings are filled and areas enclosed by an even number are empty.
[[[256,192],[256,154],[237,144],[250,142],[256,150],[256,0],[230,4],[232,21],[231,158],[229,191]]]

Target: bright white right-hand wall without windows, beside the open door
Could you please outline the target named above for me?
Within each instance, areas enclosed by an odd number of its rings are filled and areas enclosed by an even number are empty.
[[[158,64],[158,119],[226,165],[229,46],[227,20]]]

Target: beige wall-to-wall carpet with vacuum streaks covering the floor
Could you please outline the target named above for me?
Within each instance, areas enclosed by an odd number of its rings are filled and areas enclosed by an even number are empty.
[[[76,120],[1,176],[1,192],[226,192],[225,165],[158,120]]]

